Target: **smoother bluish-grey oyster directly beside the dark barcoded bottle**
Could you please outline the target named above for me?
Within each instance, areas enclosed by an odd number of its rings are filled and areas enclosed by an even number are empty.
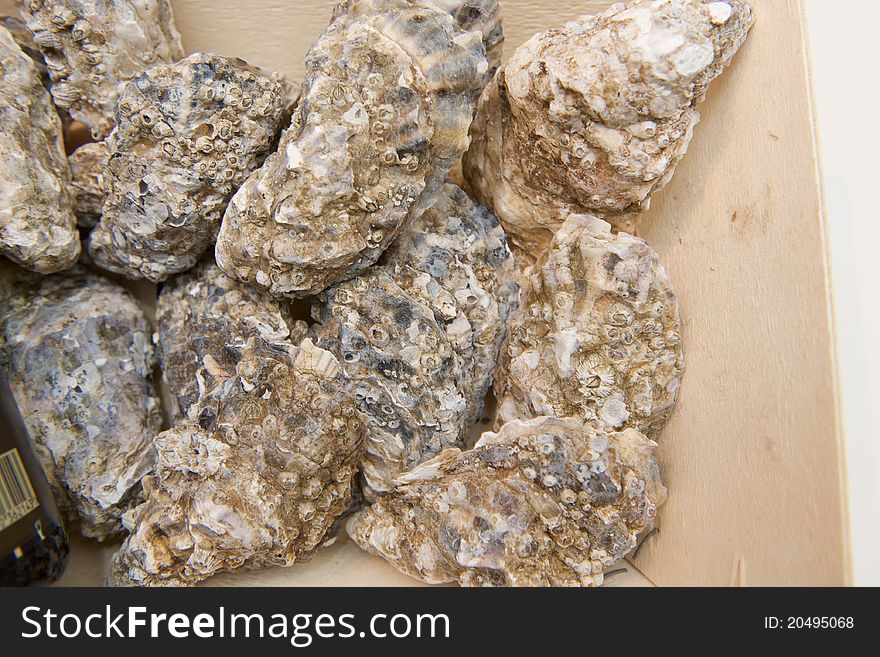
[[[0,350],[56,499],[86,536],[122,532],[161,429],[151,329],[134,297],[81,267],[0,272]]]

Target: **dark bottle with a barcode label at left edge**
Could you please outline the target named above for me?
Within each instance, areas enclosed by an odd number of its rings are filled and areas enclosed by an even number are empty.
[[[58,579],[69,552],[46,474],[0,370],[0,586]]]

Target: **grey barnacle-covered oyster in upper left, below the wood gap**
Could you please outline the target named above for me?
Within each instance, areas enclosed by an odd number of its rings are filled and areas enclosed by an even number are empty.
[[[205,53],[126,83],[107,138],[94,262],[153,282],[195,266],[229,199],[274,145],[287,96],[279,76]]]

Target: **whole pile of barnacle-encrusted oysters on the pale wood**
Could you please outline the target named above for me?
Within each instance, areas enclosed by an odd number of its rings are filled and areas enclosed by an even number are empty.
[[[20,4],[2,365],[71,521],[122,539],[112,584],[343,525],[432,583],[598,585],[636,547],[684,365],[633,233],[748,5],[614,5],[502,65],[496,0],[348,0],[296,91],[185,57],[168,0]]]

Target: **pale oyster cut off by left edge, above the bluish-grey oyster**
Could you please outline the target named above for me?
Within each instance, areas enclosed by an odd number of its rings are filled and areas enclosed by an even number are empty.
[[[61,120],[34,61],[0,26],[0,255],[50,274],[80,254]]]

